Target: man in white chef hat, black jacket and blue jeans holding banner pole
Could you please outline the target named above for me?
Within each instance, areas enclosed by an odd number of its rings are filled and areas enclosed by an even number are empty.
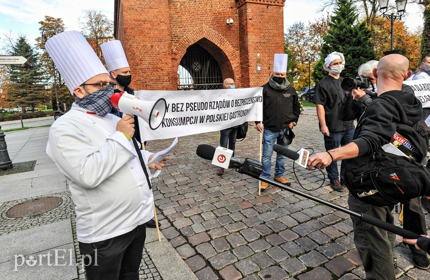
[[[291,129],[297,124],[300,115],[299,97],[287,80],[287,62],[287,54],[275,54],[273,74],[263,86],[263,122],[255,122],[255,128],[263,133],[261,176],[267,179],[271,177],[273,146],[279,144],[288,148],[289,143],[284,143],[284,136],[293,134]],[[285,156],[276,154],[275,181],[290,186],[291,183],[284,178],[285,160]],[[261,183],[263,192],[268,187],[268,183]]]

